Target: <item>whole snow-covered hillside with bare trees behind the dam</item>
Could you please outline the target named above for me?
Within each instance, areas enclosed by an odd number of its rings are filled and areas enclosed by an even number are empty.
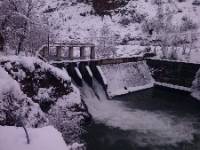
[[[33,53],[49,39],[94,43],[103,57],[130,56],[161,41],[186,45],[187,56],[173,59],[197,60],[199,12],[199,0],[1,0],[0,51]]]

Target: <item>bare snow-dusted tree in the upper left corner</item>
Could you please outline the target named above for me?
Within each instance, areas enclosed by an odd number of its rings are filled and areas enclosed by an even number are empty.
[[[33,0],[3,0],[0,5],[0,31],[4,46],[15,49],[16,54],[34,47],[34,43],[30,42],[33,38],[41,40],[41,35],[45,35],[41,31],[45,27],[40,23],[36,6]]]

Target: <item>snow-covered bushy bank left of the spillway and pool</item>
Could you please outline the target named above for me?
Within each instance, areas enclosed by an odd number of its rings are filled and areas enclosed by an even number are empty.
[[[34,57],[16,56],[1,57],[0,67],[12,80],[3,84],[0,72],[0,125],[16,125],[19,119],[31,127],[49,123],[67,143],[80,142],[90,117],[65,70]],[[12,83],[17,84],[17,92]],[[2,92],[6,84],[10,88]]]

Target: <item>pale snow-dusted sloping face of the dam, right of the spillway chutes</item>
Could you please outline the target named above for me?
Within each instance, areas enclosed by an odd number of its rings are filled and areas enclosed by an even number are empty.
[[[153,87],[153,79],[145,62],[104,65],[101,69],[108,82],[107,93],[111,97]]]

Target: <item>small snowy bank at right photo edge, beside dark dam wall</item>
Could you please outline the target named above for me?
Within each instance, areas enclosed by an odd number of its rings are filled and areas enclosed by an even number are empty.
[[[197,72],[195,80],[192,83],[192,94],[194,98],[200,100],[200,70]]]

